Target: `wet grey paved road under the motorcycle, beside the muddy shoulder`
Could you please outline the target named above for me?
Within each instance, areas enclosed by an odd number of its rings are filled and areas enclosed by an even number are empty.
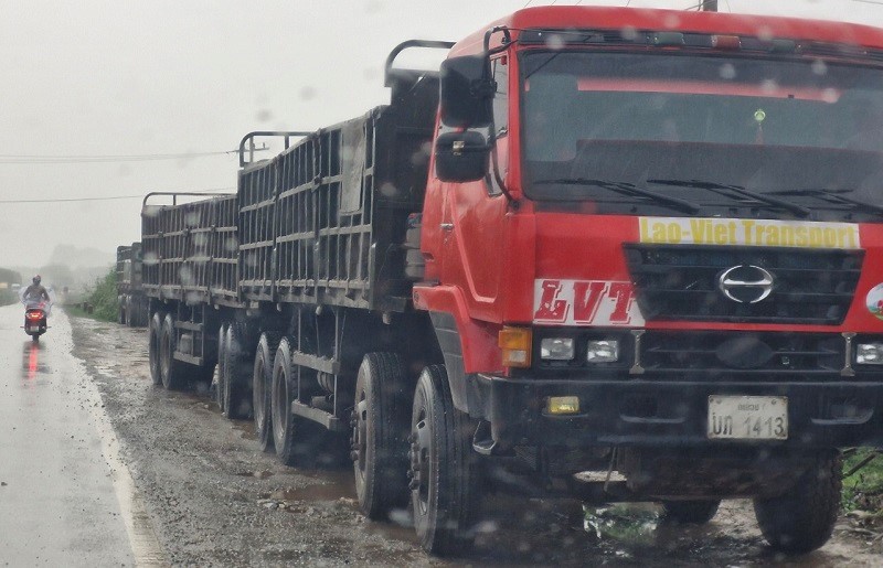
[[[22,320],[21,307],[0,308],[0,560],[131,566],[131,510],[118,496],[128,472],[67,319],[53,314],[39,343]]]

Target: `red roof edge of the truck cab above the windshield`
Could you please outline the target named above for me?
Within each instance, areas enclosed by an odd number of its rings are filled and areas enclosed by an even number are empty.
[[[512,29],[512,39],[518,36],[519,29],[635,29],[811,40],[883,49],[883,30],[845,22],[722,12],[547,6],[525,8],[492,22],[458,42],[450,55],[479,52],[485,32],[496,25]],[[494,34],[491,46],[500,44],[501,35]]]

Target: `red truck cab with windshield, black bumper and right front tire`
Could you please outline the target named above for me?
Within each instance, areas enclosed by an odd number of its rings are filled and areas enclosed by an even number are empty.
[[[455,45],[413,296],[472,450],[821,546],[837,448],[883,433],[881,61],[866,26],[618,8]]]

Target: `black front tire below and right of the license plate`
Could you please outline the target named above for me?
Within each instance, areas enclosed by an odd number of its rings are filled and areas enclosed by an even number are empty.
[[[773,548],[805,554],[828,542],[840,512],[841,470],[840,452],[821,451],[787,493],[754,500],[760,533]]]

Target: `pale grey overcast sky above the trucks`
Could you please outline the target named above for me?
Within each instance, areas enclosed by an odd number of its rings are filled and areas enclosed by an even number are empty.
[[[383,62],[398,42],[457,40],[550,3],[577,2],[0,0],[0,267],[42,265],[58,243],[110,253],[140,234],[138,199],[11,200],[233,191],[234,154],[118,157],[223,152],[252,130],[313,130],[359,116],[387,103]],[[883,6],[861,0],[720,0],[720,10],[883,26]],[[45,163],[55,157],[102,161]]]

